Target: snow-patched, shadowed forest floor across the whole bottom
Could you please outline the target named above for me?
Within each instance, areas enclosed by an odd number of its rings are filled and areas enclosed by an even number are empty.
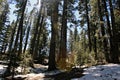
[[[0,65],[0,74],[4,73],[5,68],[5,65]],[[120,80],[119,64],[97,65],[84,69],[73,68],[70,71],[46,71],[47,68],[48,66],[35,64],[32,72],[16,75],[14,80]],[[12,79],[7,77],[5,80]]]

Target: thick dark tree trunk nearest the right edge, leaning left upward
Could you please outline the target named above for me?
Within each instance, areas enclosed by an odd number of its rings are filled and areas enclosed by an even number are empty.
[[[117,42],[117,36],[116,33],[117,29],[115,26],[115,16],[114,16],[114,11],[113,11],[113,6],[112,6],[112,1],[108,0],[109,2],[109,6],[110,6],[110,17],[111,17],[111,23],[112,23],[112,32],[113,32],[113,36],[112,36],[112,43],[113,46],[111,46],[111,62],[113,63],[119,63],[119,49],[118,49],[118,42]]]

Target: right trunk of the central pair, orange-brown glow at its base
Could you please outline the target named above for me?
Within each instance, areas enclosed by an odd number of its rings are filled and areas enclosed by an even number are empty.
[[[61,26],[61,40],[60,40],[60,66],[66,68],[66,56],[67,56],[67,3],[68,0],[64,0],[63,3],[63,15]]]

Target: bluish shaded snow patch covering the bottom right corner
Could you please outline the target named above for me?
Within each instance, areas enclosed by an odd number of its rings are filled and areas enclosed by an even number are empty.
[[[84,76],[71,80],[120,80],[120,65],[107,64],[84,69]]]

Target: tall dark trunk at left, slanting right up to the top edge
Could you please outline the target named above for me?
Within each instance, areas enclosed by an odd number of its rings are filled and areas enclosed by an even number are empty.
[[[10,60],[10,62],[12,62],[12,78],[14,78],[14,70],[15,70],[15,67],[14,65],[16,64],[16,59],[17,57],[22,53],[22,29],[23,29],[23,20],[24,20],[24,12],[25,12],[25,8],[26,8],[26,4],[27,4],[27,0],[23,1],[23,4],[22,4],[22,8],[21,8],[21,15],[20,15],[20,22],[19,22],[19,26],[18,26],[18,30],[17,30],[17,35],[16,35],[16,39],[15,39],[15,43],[14,43],[14,49],[12,51],[12,58]],[[19,37],[20,35],[20,37]],[[16,52],[17,52],[17,47],[18,47],[18,40],[20,38],[20,48],[19,48],[19,51],[18,51],[18,55],[16,55]]]

